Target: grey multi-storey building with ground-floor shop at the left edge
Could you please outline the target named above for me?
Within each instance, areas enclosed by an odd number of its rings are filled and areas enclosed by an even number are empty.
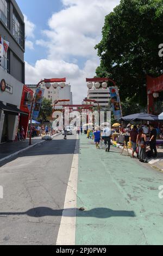
[[[4,49],[0,60],[0,143],[15,139],[18,116],[21,118],[24,114],[20,111],[24,85],[24,27],[24,17],[16,1],[0,0],[0,44]]]

